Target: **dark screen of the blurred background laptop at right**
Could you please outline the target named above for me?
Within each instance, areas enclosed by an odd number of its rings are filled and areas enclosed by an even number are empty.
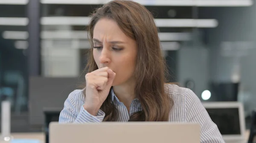
[[[240,135],[239,108],[206,108],[221,135]]]

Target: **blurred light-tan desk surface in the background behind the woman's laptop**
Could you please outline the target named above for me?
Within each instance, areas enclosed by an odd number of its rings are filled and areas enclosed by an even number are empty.
[[[245,137],[246,140],[248,140],[250,135],[250,131],[247,130]],[[40,132],[40,133],[12,133],[12,136],[15,139],[37,139],[37,140],[41,140],[43,143],[45,143],[45,134],[44,132]]]

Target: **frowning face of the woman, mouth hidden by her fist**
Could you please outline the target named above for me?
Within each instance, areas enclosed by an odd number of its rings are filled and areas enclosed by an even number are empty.
[[[126,36],[114,20],[102,18],[93,30],[93,58],[98,68],[109,67],[116,73],[112,86],[133,79],[137,44]]]

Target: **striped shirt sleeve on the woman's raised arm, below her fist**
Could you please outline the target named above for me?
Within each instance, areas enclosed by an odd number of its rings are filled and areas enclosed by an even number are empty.
[[[59,116],[59,123],[97,123],[102,122],[105,113],[99,110],[96,116],[87,112],[84,107],[82,90],[75,90],[64,102],[64,108]]]

